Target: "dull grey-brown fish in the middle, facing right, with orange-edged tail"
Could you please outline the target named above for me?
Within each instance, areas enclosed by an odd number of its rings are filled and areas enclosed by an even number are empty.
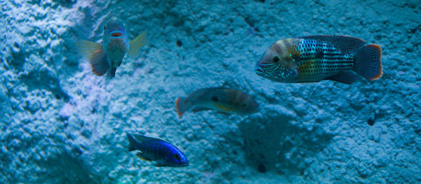
[[[209,87],[195,90],[187,97],[175,100],[175,109],[180,118],[185,112],[216,110],[221,113],[240,115],[255,113],[259,104],[250,94],[225,87]]]

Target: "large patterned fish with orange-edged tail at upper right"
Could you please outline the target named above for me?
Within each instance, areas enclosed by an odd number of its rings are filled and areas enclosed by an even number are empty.
[[[359,76],[382,77],[380,45],[351,36],[314,35],[281,39],[255,64],[258,76],[279,83],[333,80],[350,85]]]

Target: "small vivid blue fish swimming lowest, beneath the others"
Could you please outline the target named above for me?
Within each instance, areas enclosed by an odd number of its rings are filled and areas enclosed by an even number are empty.
[[[128,134],[128,151],[139,150],[136,157],[154,161],[156,167],[187,167],[189,161],[184,153],[167,141],[142,134]]]

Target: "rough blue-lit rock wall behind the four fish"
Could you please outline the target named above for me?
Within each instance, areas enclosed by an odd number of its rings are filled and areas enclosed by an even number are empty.
[[[421,183],[418,1],[1,1],[0,183]],[[98,77],[76,41],[115,13],[140,57]],[[382,48],[383,76],[276,83],[255,63],[316,34]],[[258,113],[185,113],[205,87],[252,95]],[[126,133],[171,141],[188,167],[154,167]]]

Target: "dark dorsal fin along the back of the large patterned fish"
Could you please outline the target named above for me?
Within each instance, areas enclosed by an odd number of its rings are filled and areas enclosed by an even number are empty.
[[[361,48],[366,41],[361,40],[360,38],[355,38],[351,36],[330,36],[330,35],[314,35],[314,36],[301,36],[298,38],[302,39],[312,39],[316,41],[323,41],[325,43],[330,43],[341,50],[344,54],[348,54],[356,51]]]

